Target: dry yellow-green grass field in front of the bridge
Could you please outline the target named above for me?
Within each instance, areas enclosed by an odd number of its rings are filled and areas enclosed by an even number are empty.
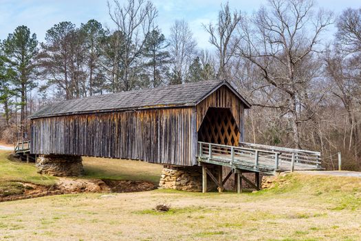
[[[100,163],[107,161],[114,160]],[[104,165],[100,176],[108,175]],[[137,165],[143,180],[159,171]],[[96,169],[94,160],[92,176]],[[109,171],[118,178],[142,172]],[[153,210],[164,202],[171,211]],[[361,240],[360,211],[361,178],[292,174],[256,193],[155,190],[1,202],[0,240]]]

